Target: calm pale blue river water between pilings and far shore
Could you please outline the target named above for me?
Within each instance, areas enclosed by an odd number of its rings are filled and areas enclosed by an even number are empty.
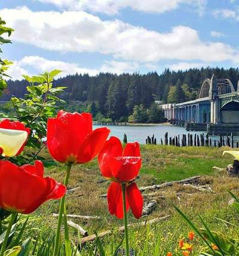
[[[100,125],[95,125],[94,129],[101,127]],[[157,143],[160,143],[160,139],[163,138],[166,132],[168,132],[168,138],[182,134],[188,134],[185,128],[176,127],[173,125],[108,125],[111,129],[111,136],[117,136],[120,140],[123,140],[124,134],[127,135],[128,142],[139,141],[139,143],[145,144],[145,139],[154,136],[157,138]],[[191,132],[192,134],[200,134],[203,132]]]

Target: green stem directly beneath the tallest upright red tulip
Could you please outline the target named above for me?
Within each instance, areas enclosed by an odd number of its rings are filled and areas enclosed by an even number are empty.
[[[66,176],[65,176],[65,181],[64,181],[64,185],[65,186],[68,185],[69,176],[70,176],[70,173],[71,173],[71,167],[72,167],[72,164],[68,164],[67,165]],[[66,198],[66,195],[64,195],[64,197],[62,197],[62,199],[60,200],[60,210],[59,210],[59,217],[58,217],[58,222],[57,222],[56,240],[55,240],[55,245],[54,245],[53,256],[57,256],[58,251],[59,251],[59,246],[60,246],[60,227],[62,225],[62,215],[63,215],[63,212],[64,212],[65,198]]]

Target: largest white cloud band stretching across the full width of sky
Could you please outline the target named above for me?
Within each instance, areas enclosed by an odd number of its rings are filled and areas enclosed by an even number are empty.
[[[38,11],[26,7],[0,10],[16,29],[13,41],[59,52],[97,52],[130,62],[235,61],[239,51],[228,44],[204,42],[188,26],[159,33],[120,20],[100,20],[84,11]]]

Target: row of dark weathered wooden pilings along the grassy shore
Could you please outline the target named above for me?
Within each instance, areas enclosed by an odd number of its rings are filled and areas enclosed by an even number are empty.
[[[148,136],[146,138],[146,144],[157,144],[157,138],[155,138],[154,135],[152,137]],[[230,136],[219,136],[219,140],[212,139],[209,137],[208,134],[182,134],[174,136],[174,137],[168,137],[168,132],[164,135],[164,141],[161,138],[160,144],[164,145],[171,145],[176,147],[185,147],[185,146],[206,146],[206,147],[222,147],[222,146],[228,146],[228,147],[239,147],[239,141],[234,140],[234,135],[231,134]]]

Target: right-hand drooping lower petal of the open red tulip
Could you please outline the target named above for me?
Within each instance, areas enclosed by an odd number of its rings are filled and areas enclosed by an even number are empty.
[[[128,203],[135,218],[139,219],[142,216],[143,197],[135,182],[131,183],[126,188]]]

